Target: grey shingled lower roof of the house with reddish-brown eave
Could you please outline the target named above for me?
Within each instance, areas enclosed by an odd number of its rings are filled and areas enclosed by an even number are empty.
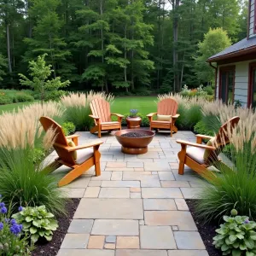
[[[230,47],[224,49],[216,55],[212,55],[207,61],[215,62],[224,59],[228,59],[231,57],[249,54],[255,52],[256,53],[256,37],[254,38],[244,38],[236,44],[231,45]]]

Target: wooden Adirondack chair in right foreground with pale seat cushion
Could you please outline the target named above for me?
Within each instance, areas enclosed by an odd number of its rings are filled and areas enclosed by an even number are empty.
[[[229,137],[226,136],[226,131],[229,129],[232,132],[239,122],[238,116],[230,119],[224,125],[219,128],[218,134],[215,137],[197,134],[196,143],[190,143],[182,140],[177,140],[177,143],[181,144],[181,151],[177,154],[179,159],[178,174],[183,175],[184,165],[189,166],[195,172],[199,174],[205,174],[207,167],[216,166],[219,162],[218,154],[221,152],[224,145],[230,143]],[[202,139],[215,140],[210,145],[204,145]],[[187,146],[191,146],[188,147]]]

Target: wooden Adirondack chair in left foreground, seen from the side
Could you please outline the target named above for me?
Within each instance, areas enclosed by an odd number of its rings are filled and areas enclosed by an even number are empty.
[[[68,172],[65,177],[61,178],[58,183],[59,187],[65,186],[71,183],[75,178],[82,175],[85,171],[88,171],[91,166],[95,166],[96,176],[101,175],[100,158],[99,152],[100,145],[103,142],[88,143],[84,145],[78,145],[79,135],[74,134],[65,137],[61,125],[58,125],[53,119],[48,117],[41,117],[40,122],[44,127],[44,131],[49,128],[55,130],[56,138],[54,148],[56,153],[59,155],[55,162],[50,164],[50,168],[45,168],[46,173],[53,172],[60,166],[68,166],[73,170]],[[68,146],[67,139],[70,139],[75,144],[74,147]],[[74,159],[74,151],[77,150],[77,158]],[[43,171],[44,172],[44,171]]]

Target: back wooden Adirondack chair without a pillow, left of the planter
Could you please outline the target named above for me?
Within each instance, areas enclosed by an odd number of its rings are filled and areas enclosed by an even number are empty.
[[[94,119],[95,126],[90,129],[90,133],[98,132],[98,137],[102,137],[102,131],[121,130],[123,115],[110,113],[110,104],[103,99],[95,99],[90,102],[91,113],[89,116]],[[111,121],[111,116],[118,117],[118,121]]]

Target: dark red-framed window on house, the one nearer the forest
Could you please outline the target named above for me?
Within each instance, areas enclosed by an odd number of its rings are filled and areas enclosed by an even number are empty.
[[[224,103],[234,102],[236,66],[219,67],[218,98]]]

